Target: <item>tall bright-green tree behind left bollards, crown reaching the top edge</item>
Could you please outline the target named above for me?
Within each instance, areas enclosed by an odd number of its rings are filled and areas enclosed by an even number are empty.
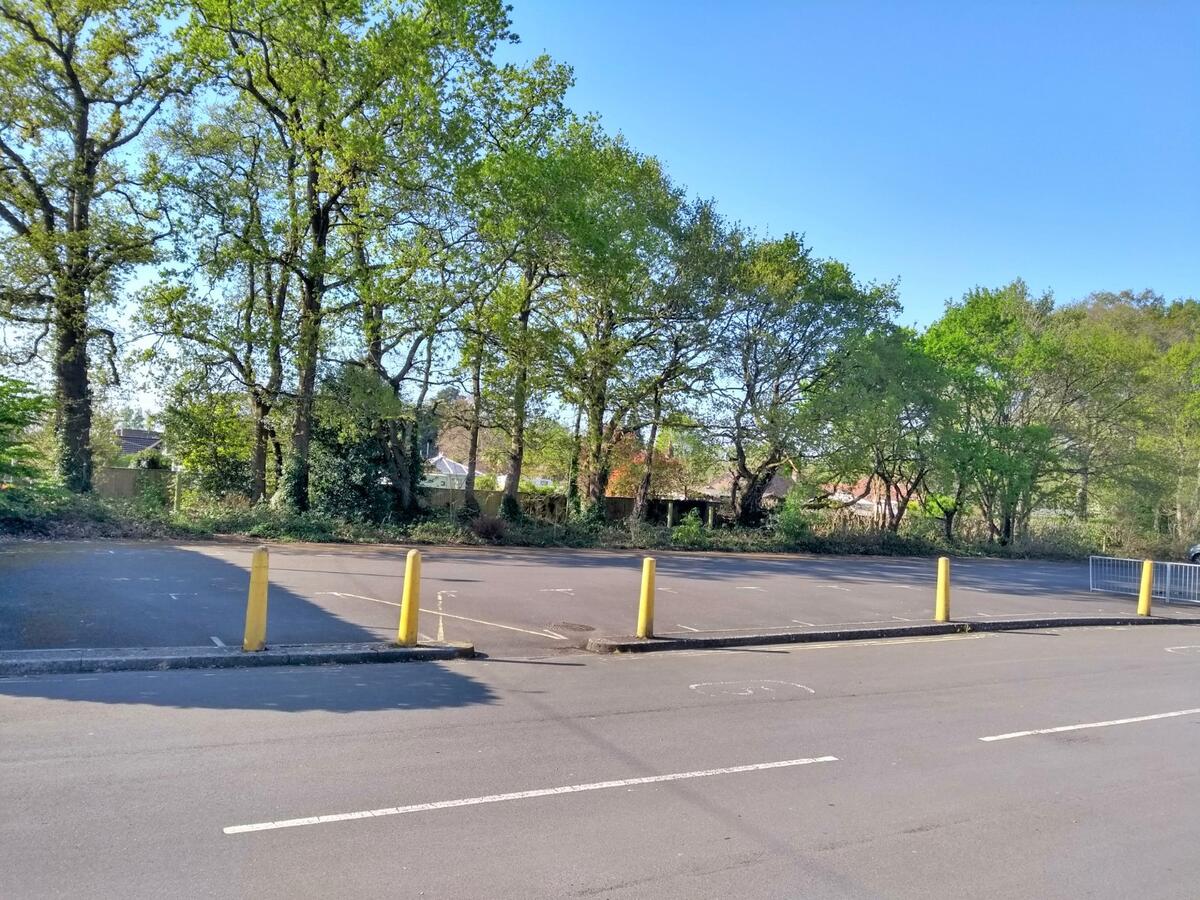
[[[371,179],[420,182],[427,149],[452,131],[443,118],[462,83],[508,37],[496,0],[197,0],[191,59],[270,122],[287,160],[286,196],[299,252],[296,384],[282,499],[308,508],[312,406],[325,320],[359,306],[361,275],[348,233],[355,192]],[[409,192],[401,191],[401,196]]]

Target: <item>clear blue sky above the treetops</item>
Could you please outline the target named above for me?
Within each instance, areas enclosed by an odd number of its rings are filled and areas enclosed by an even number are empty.
[[[1200,0],[511,2],[512,55],[572,65],[574,109],[899,278],[906,324],[1018,276],[1200,296]]]

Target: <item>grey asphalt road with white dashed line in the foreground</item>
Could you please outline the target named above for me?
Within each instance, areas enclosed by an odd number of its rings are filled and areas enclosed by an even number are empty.
[[[0,679],[19,898],[1193,898],[1200,635]]]

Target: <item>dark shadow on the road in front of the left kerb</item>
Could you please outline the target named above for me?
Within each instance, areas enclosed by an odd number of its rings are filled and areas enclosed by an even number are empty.
[[[486,684],[440,662],[31,676],[0,679],[0,696],[278,713],[445,709],[497,702]]]

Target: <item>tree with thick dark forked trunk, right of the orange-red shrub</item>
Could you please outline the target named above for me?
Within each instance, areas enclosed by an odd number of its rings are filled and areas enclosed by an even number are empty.
[[[755,526],[780,466],[815,439],[805,403],[896,301],[894,286],[859,284],[796,235],[751,244],[742,259],[708,385],[709,419],[732,449],[734,515]]]

